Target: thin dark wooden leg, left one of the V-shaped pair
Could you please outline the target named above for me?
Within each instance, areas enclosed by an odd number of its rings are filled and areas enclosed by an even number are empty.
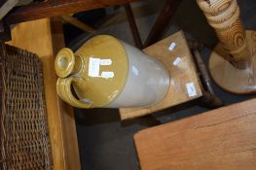
[[[125,10],[126,10],[126,14],[127,14],[127,17],[128,17],[128,24],[129,24],[129,27],[130,27],[135,45],[138,49],[143,49],[142,41],[140,39],[138,28],[137,28],[133,13],[131,11],[130,5],[125,4],[124,7],[125,7]]]

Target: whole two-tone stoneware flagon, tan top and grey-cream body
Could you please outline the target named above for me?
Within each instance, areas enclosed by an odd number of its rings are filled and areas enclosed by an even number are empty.
[[[58,96],[77,108],[145,107],[168,90],[165,65],[109,35],[98,35],[75,53],[55,58]]]

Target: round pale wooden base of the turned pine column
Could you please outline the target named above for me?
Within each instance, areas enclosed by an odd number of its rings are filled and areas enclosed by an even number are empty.
[[[256,32],[246,31],[249,45],[251,64],[247,69],[239,70],[225,56],[228,55],[219,44],[211,52],[209,71],[214,82],[223,89],[238,93],[256,93]]]

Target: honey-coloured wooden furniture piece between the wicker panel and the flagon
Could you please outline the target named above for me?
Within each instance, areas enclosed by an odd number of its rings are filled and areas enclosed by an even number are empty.
[[[54,170],[80,170],[73,109],[64,104],[56,94],[55,51],[64,44],[61,30],[53,26],[61,22],[55,20],[54,23],[51,24],[49,18],[20,23],[13,28],[12,42],[9,44],[37,53],[43,63]]]

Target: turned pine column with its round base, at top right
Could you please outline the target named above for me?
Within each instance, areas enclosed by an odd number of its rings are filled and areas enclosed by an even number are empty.
[[[209,59],[211,77],[223,89],[256,92],[256,32],[244,31],[237,0],[197,0],[220,43]]]

